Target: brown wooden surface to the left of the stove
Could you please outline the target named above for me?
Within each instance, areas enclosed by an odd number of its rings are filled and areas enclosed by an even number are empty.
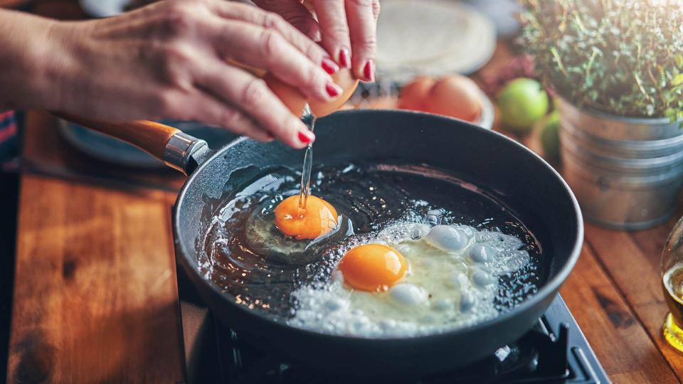
[[[9,383],[178,383],[164,192],[23,176]]]

